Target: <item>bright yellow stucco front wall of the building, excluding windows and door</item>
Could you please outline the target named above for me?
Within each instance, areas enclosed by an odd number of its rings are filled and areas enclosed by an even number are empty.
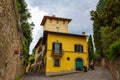
[[[83,66],[88,68],[88,47],[84,35],[61,34],[47,32],[46,75],[71,73],[76,71],[76,59],[83,60]],[[62,54],[52,55],[52,43],[62,43]],[[75,52],[75,44],[83,45],[83,52]],[[54,59],[60,59],[60,66],[54,66]],[[69,58],[69,60],[68,60]]]

